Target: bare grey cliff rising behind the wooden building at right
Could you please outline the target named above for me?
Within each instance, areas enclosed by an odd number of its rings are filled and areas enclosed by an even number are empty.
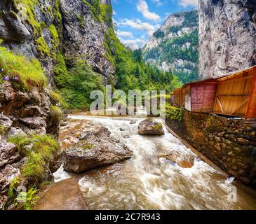
[[[256,1],[199,2],[199,75],[220,76],[256,64]]]

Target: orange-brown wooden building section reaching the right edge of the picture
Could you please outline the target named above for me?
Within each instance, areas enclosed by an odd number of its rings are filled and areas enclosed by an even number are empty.
[[[256,66],[218,79],[213,112],[256,118]]]

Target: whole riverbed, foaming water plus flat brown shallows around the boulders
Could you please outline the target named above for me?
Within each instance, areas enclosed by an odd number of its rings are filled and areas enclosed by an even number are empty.
[[[127,146],[133,155],[129,160],[82,174],[65,172],[61,167],[54,174],[56,183],[41,191],[36,208],[256,209],[253,191],[203,162],[164,125],[162,136],[139,135],[138,125],[143,120],[69,116],[60,129],[63,151],[79,144],[84,132],[105,127],[111,133],[109,138]],[[228,200],[231,187],[236,187],[236,202]],[[72,207],[55,203],[67,205],[67,200]]]

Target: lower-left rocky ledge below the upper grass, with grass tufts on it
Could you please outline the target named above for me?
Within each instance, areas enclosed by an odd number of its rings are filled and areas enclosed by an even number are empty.
[[[25,92],[15,90],[8,81],[0,83],[0,209],[11,200],[10,188],[15,181],[21,186],[26,186],[28,190],[34,183],[50,181],[52,172],[58,168],[58,143],[46,136],[49,134],[58,138],[61,112],[55,111],[56,106],[53,106],[57,103],[47,89],[34,87],[31,91]],[[29,139],[30,137],[32,139]],[[8,141],[11,138],[20,141],[20,146]],[[51,158],[51,162],[46,161],[43,154],[34,151],[33,142],[36,141],[42,153],[46,153],[44,147],[48,147],[48,144],[55,148],[55,159]],[[22,149],[25,142],[30,144],[29,148],[32,148],[33,153]],[[52,155],[48,153],[47,156]],[[39,161],[36,161],[36,158],[43,160],[43,169],[37,164]],[[41,181],[36,176],[37,172],[40,175],[42,173]]]

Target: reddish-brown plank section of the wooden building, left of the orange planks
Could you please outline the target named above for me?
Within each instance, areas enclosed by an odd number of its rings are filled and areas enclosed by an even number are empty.
[[[187,111],[210,113],[215,105],[217,80],[209,78],[184,85]]]

